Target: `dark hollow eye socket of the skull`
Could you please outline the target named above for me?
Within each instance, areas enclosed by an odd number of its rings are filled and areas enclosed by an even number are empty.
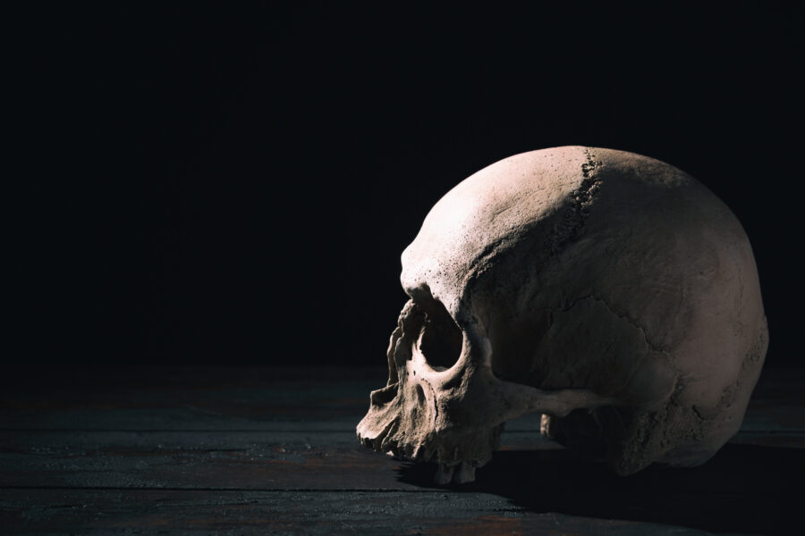
[[[436,371],[452,367],[462,355],[462,331],[438,300],[422,300],[417,306],[423,313],[417,341],[419,353]]]

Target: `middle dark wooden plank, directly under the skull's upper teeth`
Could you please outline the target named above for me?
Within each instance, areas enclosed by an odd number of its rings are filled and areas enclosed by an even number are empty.
[[[479,470],[477,485],[570,478],[605,494],[640,482],[682,494],[801,495],[791,475],[805,474],[801,448],[728,444],[693,470],[649,467],[621,478],[564,449],[533,450],[533,439],[513,434]],[[3,443],[4,487],[418,490],[433,487],[436,470],[360,448],[349,432],[13,432]]]

